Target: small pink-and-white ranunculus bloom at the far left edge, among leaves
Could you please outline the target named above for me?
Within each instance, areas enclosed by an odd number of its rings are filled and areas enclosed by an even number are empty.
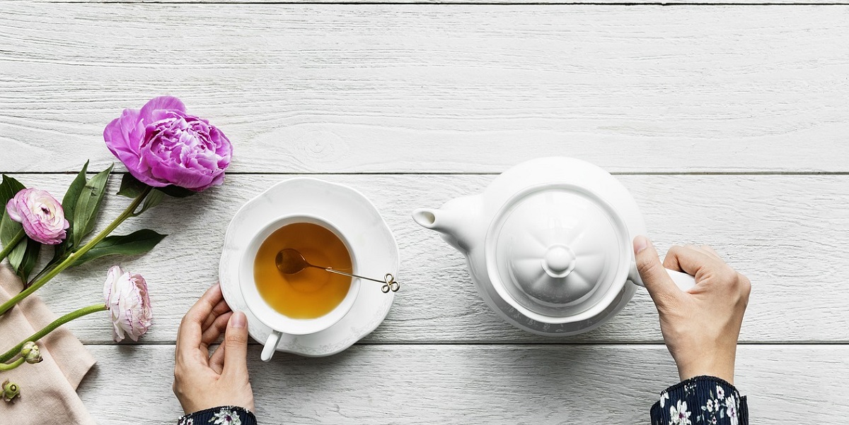
[[[70,223],[65,219],[62,204],[47,190],[24,189],[18,191],[6,204],[8,217],[24,226],[31,240],[45,245],[57,245],[65,240],[65,229]]]

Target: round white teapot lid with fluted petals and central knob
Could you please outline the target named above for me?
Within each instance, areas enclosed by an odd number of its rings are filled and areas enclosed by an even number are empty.
[[[504,204],[486,250],[493,284],[531,312],[562,317],[588,310],[621,279],[630,236],[613,207],[592,191],[537,185]]]

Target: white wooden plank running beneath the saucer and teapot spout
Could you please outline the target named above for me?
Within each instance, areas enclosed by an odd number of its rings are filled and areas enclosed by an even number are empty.
[[[61,194],[70,175],[21,176]],[[327,175],[374,201],[401,248],[404,288],[389,317],[368,343],[660,342],[655,307],[639,290],[624,311],[603,327],[571,339],[547,339],[503,323],[476,294],[464,258],[438,235],[410,218],[415,207],[438,207],[475,193],[492,176]],[[147,277],[155,325],[146,343],[171,343],[183,313],[217,279],[218,258],[229,219],[250,197],[284,179],[237,175],[188,200],[168,200],[119,228],[143,226],[168,237],[137,258],[104,258],[62,273],[38,291],[54,312],[97,302],[107,268],[121,262]],[[751,304],[741,340],[746,342],[849,342],[849,176],[622,176],[644,212],[657,245],[706,243],[752,281]],[[113,190],[114,193],[115,187]],[[58,196],[58,195],[57,195]],[[293,200],[296,201],[296,200]],[[127,205],[110,196],[100,227]],[[69,295],[71,291],[72,295]],[[105,315],[71,324],[89,343],[108,343]]]

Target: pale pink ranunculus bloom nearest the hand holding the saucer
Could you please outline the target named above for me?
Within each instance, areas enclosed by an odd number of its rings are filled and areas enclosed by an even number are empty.
[[[120,266],[112,266],[104,284],[104,299],[115,342],[121,342],[125,336],[138,341],[148,331],[153,316],[148,284],[141,274],[125,273]]]

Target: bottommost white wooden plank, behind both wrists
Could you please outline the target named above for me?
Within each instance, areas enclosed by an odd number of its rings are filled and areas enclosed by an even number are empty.
[[[98,365],[79,394],[98,422],[182,415],[172,345],[88,348]],[[260,423],[648,423],[658,394],[678,382],[663,345],[355,345],[270,363],[252,347],[249,357]],[[849,415],[846,345],[743,345],[737,359],[753,423]]]

